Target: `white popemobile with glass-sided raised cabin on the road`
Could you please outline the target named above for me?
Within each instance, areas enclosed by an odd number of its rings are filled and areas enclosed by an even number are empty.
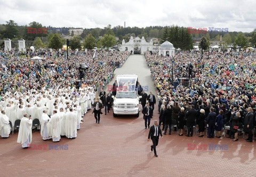
[[[137,74],[117,75],[117,91],[114,98],[113,116],[116,115],[136,115],[139,117],[140,107],[136,85],[138,82]]]

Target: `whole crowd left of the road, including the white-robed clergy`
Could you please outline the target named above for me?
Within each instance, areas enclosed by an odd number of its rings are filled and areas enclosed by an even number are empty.
[[[40,129],[44,140],[75,138],[97,89],[113,78],[128,56],[127,52],[97,50],[71,52],[67,60],[63,53],[48,50],[1,51],[1,137],[9,137],[16,124],[21,124],[18,142],[22,147],[31,142],[30,127]],[[83,77],[79,72],[82,63],[86,65]]]

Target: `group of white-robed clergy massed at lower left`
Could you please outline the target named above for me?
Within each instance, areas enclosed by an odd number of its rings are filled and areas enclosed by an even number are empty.
[[[9,137],[11,125],[21,120],[18,141],[22,148],[29,146],[32,129],[41,130],[43,140],[60,141],[61,136],[76,138],[77,130],[88,109],[94,103],[93,88],[79,90],[59,88],[58,90],[33,90],[23,94],[17,90],[14,94],[6,92],[0,102],[0,132],[2,138]],[[33,120],[38,119],[41,127],[34,127]]]

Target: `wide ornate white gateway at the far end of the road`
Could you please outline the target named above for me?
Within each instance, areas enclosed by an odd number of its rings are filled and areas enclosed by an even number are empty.
[[[130,40],[125,43],[125,40],[123,39],[122,41],[122,47],[120,48],[121,51],[132,51],[132,54],[136,54],[138,50],[140,50],[140,53],[143,54],[144,52],[153,50],[153,40],[151,39],[150,42],[148,43],[144,37],[141,39],[139,37],[133,37],[131,36]],[[138,54],[138,53],[137,53]]]

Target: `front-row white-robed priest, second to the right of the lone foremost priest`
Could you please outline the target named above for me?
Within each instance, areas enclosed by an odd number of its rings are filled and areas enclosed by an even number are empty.
[[[48,122],[48,124],[52,127],[52,130],[50,130],[49,126],[49,131],[52,133],[52,141],[60,141],[61,116],[60,114],[57,114],[57,110],[53,110],[53,115],[51,116],[51,120]]]

